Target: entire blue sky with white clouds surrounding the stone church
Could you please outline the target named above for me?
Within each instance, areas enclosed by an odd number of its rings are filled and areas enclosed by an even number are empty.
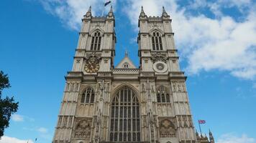
[[[83,14],[100,15],[104,0],[2,0],[0,69],[12,88],[3,94],[19,101],[19,111],[0,142],[51,142],[78,41]],[[256,2],[250,0],[112,1],[116,18],[116,65],[129,51],[138,66],[137,19],[173,19],[180,67],[186,71],[196,128],[205,119],[218,143],[256,142]],[[109,6],[106,7],[109,11]]]

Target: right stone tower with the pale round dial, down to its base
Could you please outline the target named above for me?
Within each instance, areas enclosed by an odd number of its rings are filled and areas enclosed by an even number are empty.
[[[148,17],[143,11],[138,34],[141,65],[140,82],[149,90],[146,112],[155,122],[145,127],[151,142],[196,142],[186,91],[186,77],[180,71],[170,16],[163,7],[162,16]],[[146,117],[145,117],[146,118]]]

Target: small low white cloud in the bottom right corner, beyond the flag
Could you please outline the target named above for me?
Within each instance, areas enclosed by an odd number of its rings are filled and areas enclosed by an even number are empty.
[[[234,134],[224,134],[216,143],[256,143],[256,139],[247,137],[246,134],[242,134],[241,137],[237,137]]]

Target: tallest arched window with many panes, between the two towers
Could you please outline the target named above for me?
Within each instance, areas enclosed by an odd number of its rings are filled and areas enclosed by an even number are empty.
[[[140,104],[129,87],[120,89],[111,103],[110,141],[140,141]]]

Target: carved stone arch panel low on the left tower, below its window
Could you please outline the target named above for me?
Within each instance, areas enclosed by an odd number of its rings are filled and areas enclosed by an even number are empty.
[[[74,137],[90,139],[91,136],[91,119],[77,119]]]

